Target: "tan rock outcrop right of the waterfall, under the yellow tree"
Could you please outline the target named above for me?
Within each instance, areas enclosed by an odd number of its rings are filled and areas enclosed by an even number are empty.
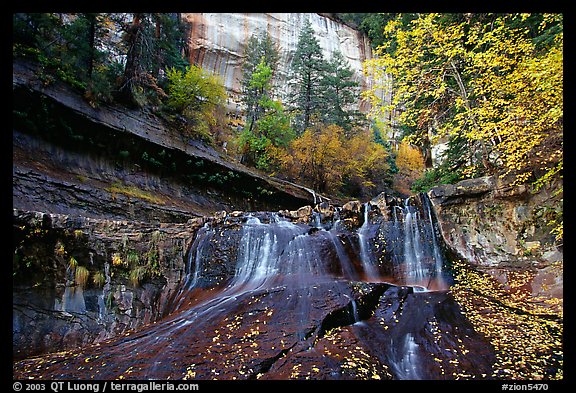
[[[525,185],[483,177],[437,186],[428,195],[456,257],[504,286],[521,273],[532,296],[562,299],[563,247],[545,218],[553,188],[532,193]]]

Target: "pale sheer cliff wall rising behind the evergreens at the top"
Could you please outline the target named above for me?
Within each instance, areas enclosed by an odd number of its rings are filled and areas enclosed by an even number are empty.
[[[360,85],[365,88],[369,83],[362,74],[362,62],[372,57],[368,38],[329,17],[314,13],[194,13],[182,14],[182,19],[191,25],[190,62],[222,77],[233,109],[239,104],[246,44],[252,35],[264,32],[278,45],[276,86],[280,98],[286,96],[290,64],[306,20],[314,29],[324,57],[329,59],[333,51],[340,50]]]

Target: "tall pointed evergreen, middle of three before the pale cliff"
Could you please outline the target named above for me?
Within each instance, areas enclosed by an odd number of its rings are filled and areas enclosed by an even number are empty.
[[[296,53],[291,65],[290,101],[296,115],[296,131],[302,134],[311,125],[314,115],[320,116],[323,108],[320,92],[326,62],[312,25],[305,21],[298,37]]]

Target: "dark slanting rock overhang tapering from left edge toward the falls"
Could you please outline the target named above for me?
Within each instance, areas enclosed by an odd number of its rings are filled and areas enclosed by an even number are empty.
[[[13,87],[14,208],[185,222],[315,198],[179,135],[152,113],[92,108],[62,84],[44,86],[33,66],[14,63]]]

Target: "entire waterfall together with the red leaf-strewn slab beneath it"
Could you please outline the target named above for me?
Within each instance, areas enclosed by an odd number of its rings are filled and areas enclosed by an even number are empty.
[[[325,206],[309,223],[281,213],[209,221],[171,313],[70,364],[44,362],[56,370],[44,375],[85,377],[98,361],[108,379],[443,378],[437,359],[466,360],[460,342],[466,353],[487,346],[434,290],[443,259],[433,215],[426,200],[409,202],[365,204],[359,228],[355,211]],[[486,375],[494,360],[480,360],[458,367]]]

